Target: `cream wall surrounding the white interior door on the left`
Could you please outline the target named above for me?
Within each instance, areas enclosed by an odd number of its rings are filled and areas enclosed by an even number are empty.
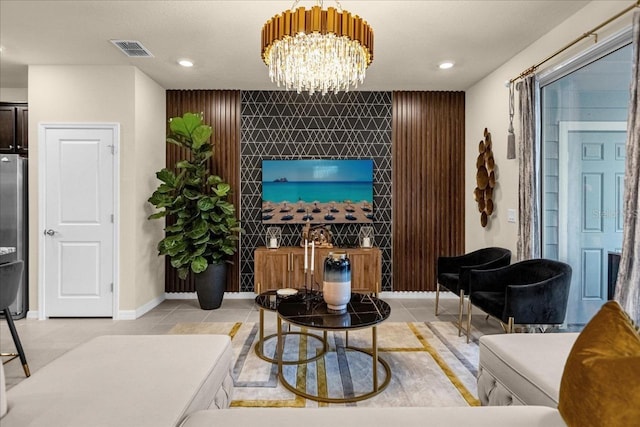
[[[141,175],[164,166],[165,92],[132,66],[29,67],[29,182],[38,182],[38,124],[114,122],[120,124],[119,309],[133,317],[164,294],[164,269],[141,252],[162,232],[142,224],[139,212],[149,197]],[[155,146],[153,144],[155,142]],[[38,187],[29,191],[29,307],[38,308]]]

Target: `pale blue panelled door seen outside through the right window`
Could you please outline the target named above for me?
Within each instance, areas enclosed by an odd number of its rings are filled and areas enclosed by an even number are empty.
[[[608,299],[608,252],[622,245],[626,123],[561,122],[560,133],[560,259],[573,268],[567,323],[585,324]]]

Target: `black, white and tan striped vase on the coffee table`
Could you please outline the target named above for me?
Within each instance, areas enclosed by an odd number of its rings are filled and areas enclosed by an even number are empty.
[[[351,263],[346,252],[329,252],[324,260],[322,296],[329,310],[347,310],[351,300]]]

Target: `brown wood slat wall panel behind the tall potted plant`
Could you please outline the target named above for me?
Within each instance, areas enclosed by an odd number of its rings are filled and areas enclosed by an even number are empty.
[[[209,168],[234,190],[232,202],[240,214],[240,91],[239,90],[168,90],[167,119],[184,113],[202,112],[204,121],[213,127],[214,155]],[[167,124],[168,131],[168,124]],[[172,168],[187,157],[186,150],[167,144],[167,167]],[[227,271],[227,291],[240,290],[240,257],[236,253]],[[180,280],[176,270],[166,262],[166,292],[194,292],[193,277]]]

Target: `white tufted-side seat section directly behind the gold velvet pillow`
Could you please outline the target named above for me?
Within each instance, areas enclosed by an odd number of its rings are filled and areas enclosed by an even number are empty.
[[[482,405],[558,407],[560,379],[578,333],[480,337],[478,398]]]

